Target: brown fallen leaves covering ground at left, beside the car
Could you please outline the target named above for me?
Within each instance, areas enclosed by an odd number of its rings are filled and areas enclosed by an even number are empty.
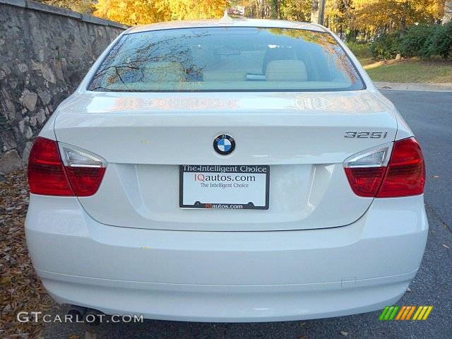
[[[42,338],[42,323],[19,323],[13,312],[54,305],[28,256],[23,227],[27,206],[25,171],[0,178],[0,338]]]

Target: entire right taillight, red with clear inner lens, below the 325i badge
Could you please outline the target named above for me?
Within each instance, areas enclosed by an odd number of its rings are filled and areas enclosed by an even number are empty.
[[[345,174],[357,196],[394,198],[422,194],[424,157],[414,138],[367,150],[344,162]]]

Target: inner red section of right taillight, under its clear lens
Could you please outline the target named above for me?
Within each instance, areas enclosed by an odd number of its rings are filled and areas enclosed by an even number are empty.
[[[357,196],[375,196],[386,167],[345,168],[348,182]]]

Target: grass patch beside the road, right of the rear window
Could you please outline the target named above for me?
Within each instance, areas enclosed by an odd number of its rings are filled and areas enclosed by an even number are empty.
[[[386,83],[452,83],[452,61],[379,61],[360,59],[373,81]]]

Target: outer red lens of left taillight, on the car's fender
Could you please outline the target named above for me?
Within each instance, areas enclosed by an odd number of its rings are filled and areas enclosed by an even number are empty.
[[[73,196],[64,173],[56,141],[38,136],[28,158],[30,193],[47,196]]]

